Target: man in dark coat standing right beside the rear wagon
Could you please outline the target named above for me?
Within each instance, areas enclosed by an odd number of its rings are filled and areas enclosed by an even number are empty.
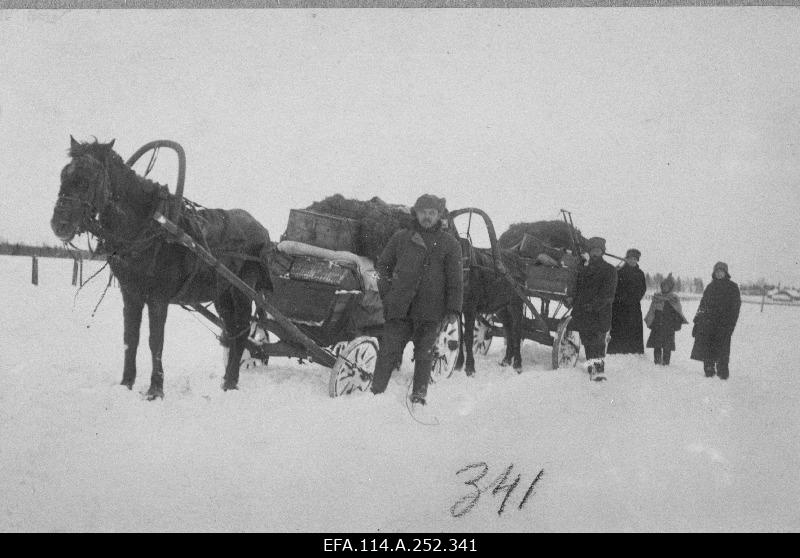
[[[603,259],[606,241],[588,240],[589,262],[578,272],[572,321],[586,351],[586,367],[595,380],[605,379],[606,335],[611,329],[611,307],[617,288],[617,271]]]

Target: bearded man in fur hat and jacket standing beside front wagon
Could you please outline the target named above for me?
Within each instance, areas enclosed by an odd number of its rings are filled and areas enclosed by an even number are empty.
[[[445,200],[420,196],[412,208],[413,228],[389,239],[376,265],[386,319],[372,392],[386,390],[408,341],[414,343],[411,402],[425,404],[436,337],[446,318],[458,321],[463,285],[461,245],[442,229]]]

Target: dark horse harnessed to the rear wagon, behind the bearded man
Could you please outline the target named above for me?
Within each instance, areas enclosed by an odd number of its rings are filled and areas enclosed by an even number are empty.
[[[464,279],[464,335],[458,350],[456,368],[462,365],[468,376],[475,373],[473,355],[473,335],[478,314],[497,314],[503,323],[506,338],[506,353],[500,366],[511,364],[514,370],[522,372],[522,318],[523,301],[515,292],[506,277],[497,271],[492,251],[487,248],[473,248],[473,261]],[[500,257],[506,269],[518,284],[524,284],[524,269],[516,252],[500,249]],[[464,354],[466,353],[466,358]]]

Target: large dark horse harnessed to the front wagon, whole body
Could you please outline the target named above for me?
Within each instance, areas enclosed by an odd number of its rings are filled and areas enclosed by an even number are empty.
[[[99,239],[119,281],[124,303],[125,365],[122,385],[133,388],[142,310],[150,320],[153,371],[147,399],[164,396],[164,324],[170,304],[212,301],[223,325],[228,361],[222,389],[236,389],[251,301],[231,287],[187,248],[171,242],[153,219],[166,213],[173,196],[166,186],[137,175],[110,143],[79,143],[70,137],[70,163],[61,171],[61,189],[50,226],[63,242],[90,232]],[[269,289],[261,265],[269,249],[267,230],[241,209],[200,209],[186,201],[178,225],[253,288]]]

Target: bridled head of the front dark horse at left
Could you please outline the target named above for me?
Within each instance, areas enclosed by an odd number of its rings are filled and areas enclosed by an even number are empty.
[[[61,187],[50,227],[63,242],[76,234],[91,231],[110,198],[110,179],[106,161],[114,140],[109,143],[79,143],[70,136],[72,160],[61,170]]]

